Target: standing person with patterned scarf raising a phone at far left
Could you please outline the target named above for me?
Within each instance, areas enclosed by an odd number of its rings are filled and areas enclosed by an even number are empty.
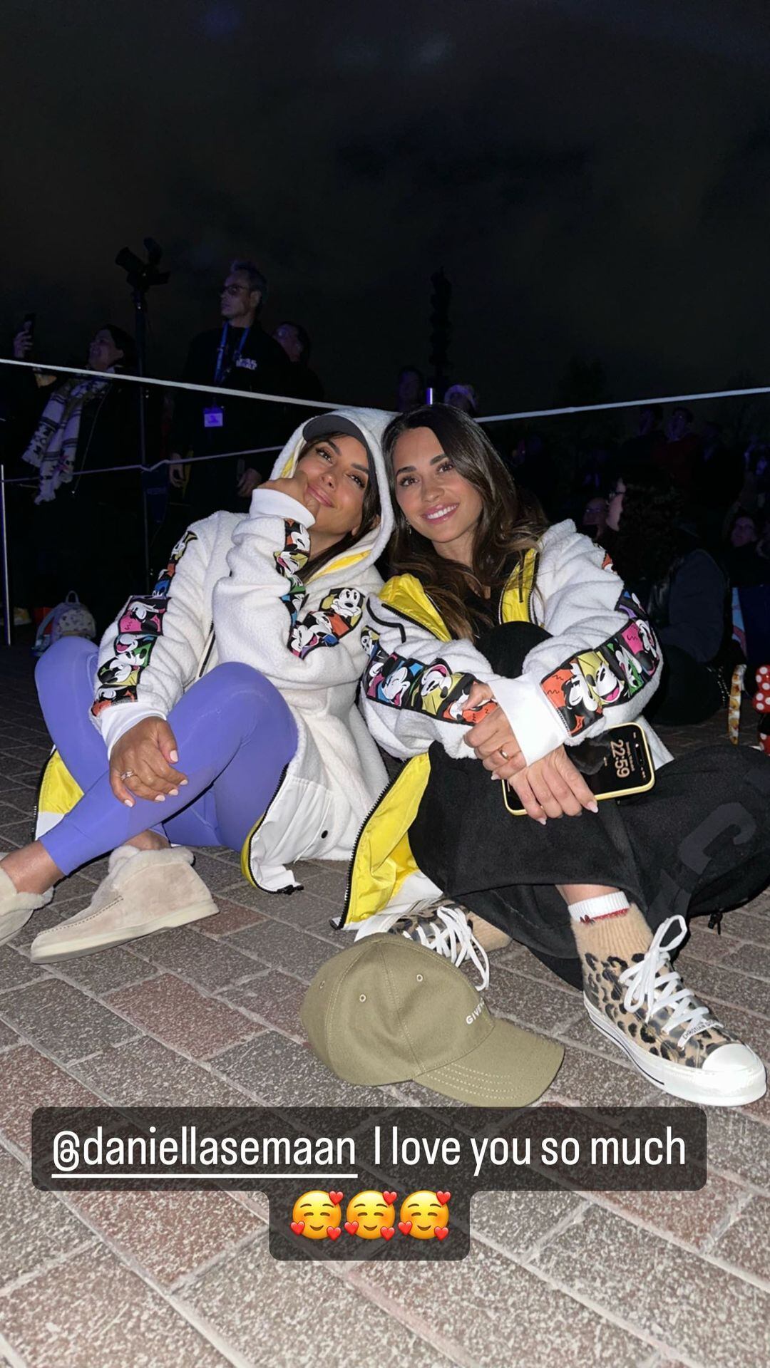
[[[15,352],[21,342],[22,334],[14,339]],[[140,472],[89,473],[140,462],[137,386],[107,379],[134,368],[133,338],[110,323],[89,345],[93,378],[36,379],[36,372],[14,368],[4,375],[19,456],[12,473],[30,480],[22,514],[29,539],[21,557],[25,592],[33,605],[53,607],[74,590],[100,631],[115,598],[144,579]],[[156,412],[155,398],[149,412]],[[151,443],[149,461],[153,454]]]

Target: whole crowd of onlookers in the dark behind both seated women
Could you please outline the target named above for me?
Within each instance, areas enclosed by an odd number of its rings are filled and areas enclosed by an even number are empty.
[[[7,501],[18,621],[40,620],[74,590],[100,631],[115,598],[144,583],[145,536],[149,565],[158,569],[190,521],[216,509],[245,514],[273,466],[274,451],[262,449],[282,445],[314,410],[230,398],[227,391],[323,398],[306,328],[284,319],[267,331],[266,298],[258,267],[233,261],[221,287],[219,320],[189,345],[178,378],[223,394],[147,390],[145,464],[167,462],[151,475],[136,469],[137,386],[104,379],[136,372],[127,332],[111,324],[95,332],[84,358],[93,376],[1,368],[5,473],[25,477],[8,487]],[[11,350],[15,358],[34,360],[30,320]],[[484,421],[470,383],[429,391],[421,369],[404,365],[393,390],[399,412],[427,395]],[[726,702],[740,650],[733,591],[756,618],[752,639],[762,637],[762,620],[770,616],[762,592],[770,584],[770,447],[712,419],[696,424],[684,406],[666,415],[656,405],[643,408],[626,438],[612,427],[617,415],[600,420],[604,430],[589,434],[543,423],[489,431],[517,483],[552,521],[573,517],[601,543],[648,609],[669,662],[655,702],[658,720],[696,722]],[[105,466],[110,473],[89,473]],[[747,650],[744,640],[741,647]]]

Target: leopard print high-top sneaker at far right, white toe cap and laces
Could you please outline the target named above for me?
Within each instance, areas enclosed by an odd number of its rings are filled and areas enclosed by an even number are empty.
[[[684,917],[670,917],[630,963],[584,953],[588,1015],[656,1088],[701,1105],[743,1107],[765,1094],[765,1066],[671,967],[670,952],[685,936]]]

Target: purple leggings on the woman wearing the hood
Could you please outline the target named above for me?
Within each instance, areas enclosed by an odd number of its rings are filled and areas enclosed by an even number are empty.
[[[197,680],[169,714],[186,787],[163,804],[137,798],[126,807],[112,793],[107,750],[89,718],[96,662],[90,642],[64,637],[41,657],[34,674],[45,725],[84,791],[41,837],[51,859],[71,874],[148,828],[178,845],[240,851],[297,747],[296,722],[278,689],[238,663],[218,665]]]

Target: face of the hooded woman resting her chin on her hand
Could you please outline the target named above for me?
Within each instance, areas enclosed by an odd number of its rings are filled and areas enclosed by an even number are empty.
[[[318,503],[312,528],[312,550],[332,546],[360,528],[370,472],[366,447],[355,436],[322,436],[297,461]]]

